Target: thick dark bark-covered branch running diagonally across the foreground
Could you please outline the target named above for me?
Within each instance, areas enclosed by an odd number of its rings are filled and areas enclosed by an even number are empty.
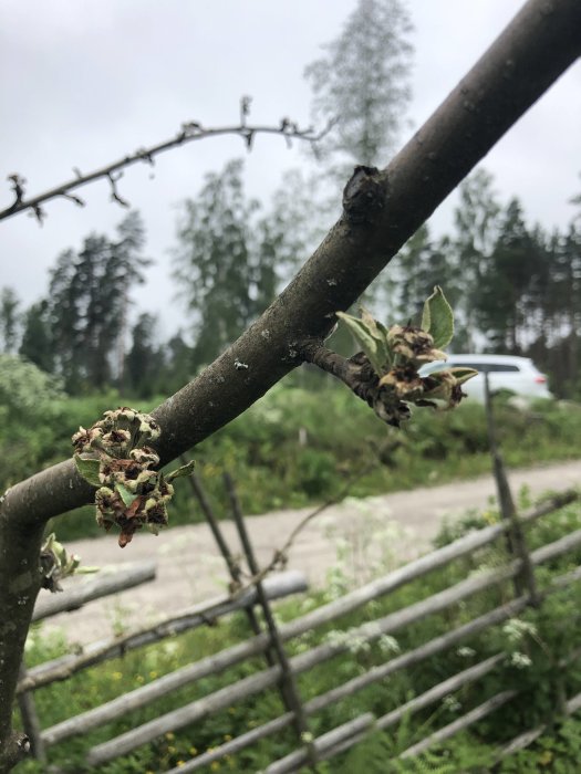
[[[299,365],[301,344],[325,337],[334,313],[356,301],[402,244],[580,54],[581,3],[529,0],[386,169],[356,168],[345,187],[343,215],[293,282],[227,352],[154,412],[163,429],[157,443],[162,462],[228,423]],[[237,362],[248,368],[238,369]],[[10,594],[0,600],[0,621],[4,621],[0,660],[2,652],[10,652],[0,667],[6,699],[0,708],[0,740],[9,738],[18,666],[39,586],[34,563],[42,529],[50,517],[92,498],[92,488],[70,460],[12,487],[0,505],[2,587],[20,577],[24,566],[33,578],[27,587],[31,597],[27,605],[17,606]],[[6,621],[15,630],[7,631]]]

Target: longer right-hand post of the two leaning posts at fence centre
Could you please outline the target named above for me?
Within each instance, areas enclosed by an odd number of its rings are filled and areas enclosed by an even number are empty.
[[[307,744],[309,765],[311,768],[314,770],[317,765],[317,752],[311,742],[307,742],[307,739],[309,739],[309,736],[307,736],[307,734],[309,734],[307,713],[304,712],[304,708],[302,705],[299,690],[297,688],[294,672],[292,671],[292,667],[289,663],[289,659],[284,650],[284,645],[282,642],[282,638],[280,637],[277,627],[277,621],[274,620],[274,616],[272,615],[272,608],[270,607],[269,599],[264,594],[262,580],[260,579],[260,566],[255,556],[252,543],[250,541],[250,535],[248,534],[248,531],[246,529],[245,517],[240,508],[240,501],[238,500],[238,496],[236,494],[232,478],[228,472],[224,473],[224,482],[228,492],[228,496],[230,499],[232,515],[236,522],[238,534],[240,536],[240,543],[242,544],[242,548],[248,562],[248,567],[252,575],[257,578],[255,580],[255,586],[257,589],[258,600],[260,603],[260,606],[262,607],[262,613],[264,614],[264,621],[267,624],[267,629],[270,635],[270,640],[272,642],[272,649],[277,656],[277,660],[282,671],[282,678],[280,681],[280,692],[282,695],[282,700],[287,709],[294,715],[294,726],[297,729],[299,740],[301,744]]]

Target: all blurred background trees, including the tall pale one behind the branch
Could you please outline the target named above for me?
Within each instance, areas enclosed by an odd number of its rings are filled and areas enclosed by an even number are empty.
[[[59,376],[70,394],[113,386],[146,398],[186,384],[317,247],[353,166],[381,167],[394,148],[411,97],[411,31],[398,0],[360,0],[322,46],[304,75],[313,118],[332,130],[315,146],[315,171],[289,172],[268,210],[245,191],[240,159],[183,202],[172,275],[184,326],[168,341],[159,341],[156,316],[132,304],[151,264],[145,227],[132,212],[114,237],[91,234],[58,257],[45,296],[29,308],[12,289],[0,291],[1,351]],[[566,229],[530,223],[518,198],[499,200],[480,168],[459,187],[452,232],[436,237],[422,226],[364,303],[378,318],[405,323],[439,284],[457,311],[456,351],[531,356],[557,395],[580,397],[580,263],[579,211]]]

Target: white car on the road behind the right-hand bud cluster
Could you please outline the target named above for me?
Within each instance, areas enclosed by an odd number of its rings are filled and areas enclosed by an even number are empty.
[[[478,376],[474,376],[463,385],[463,391],[470,398],[484,402],[485,399],[485,372],[488,373],[490,391],[500,389],[509,390],[515,395],[529,400],[537,398],[552,398],[547,386],[547,376],[535,366],[528,357],[513,355],[449,355],[447,360],[428,363],[419,370],[422,376],[427,376],[436,370],[464,366],[476,368]]]

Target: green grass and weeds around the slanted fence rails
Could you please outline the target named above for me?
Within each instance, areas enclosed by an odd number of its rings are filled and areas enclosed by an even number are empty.
[[[480,525],[488,524],[498,515],[488,511]],[[444,544],[475,527],[478,517],[470,514],[454,531],[443,533],[438,542]],[[527,529],[529,545],[538,545],[561,537],[569,531],[581,527],[581,506],[569,505],[542,519]],[[290,620],[338,596],[354,585],[354,563],[350,551],[354,546],[342,545],[336,565],[330,574],[324,590],[295,597],[277,604],[279,620]],[[359,548],[357,548],[359,551]],[[361,558],[361,557],[360,557]],[[393,610],[404,608],[423,599],[468,574],[497,566],[506,559],[502,544],[481,550],[474,557],[464,557],[448,566],[418,578],[393,594],[376,599],[355,614],[350,614],[291,640],[290,656],[302,652],[314,645],[336,637],[347,638],[350,629],[366,620],[373,620]],[[539,585],[543,587],[550,578],[581,563],[581,550],[556,559],[538,571]],[[370,576],[386,572],[390,567],[370,569]],[[475,618],[491,607],[513,596],[510,583],[505,583],[469,597],[448,610],[394,632],[393,637],[378,638],[373,642],[361,642],[352,638],[347,652],[334,657],[308,673],[299,676],[298,684],[303,700],[318,695],[340,682],[382,663],[400,650],[419,646],[452,628]],[[413,695],[427,690],[447,677],[499,651],[506,653],[501,668],[477,683],[468,684],[440,702],[409,715],[398,726],[387,732],[375,733],[352,751],[322,763],[320,774],[362,774],[367,772],[577,772],[581,753],[581,719],[562,720],[556,717],[559,686],[567,687],[568,695],[581,691],[581,667],[573,661],[557,680],[557,661],[575,647],[581,636],[579,608],[581,589],[572,586],[551,596],[551,602],[540,609],[528,609],[520,617],[528,626],[517,627],[509,621],[479,634],[459,647],[452,648],[423,661],[415,667],[398,671],[387,680],[373,684],[346,700],[334,702],[310,719],[310,728],[317,735],[330,726],[339,725],[357,714],[373,711],[381,715],[396,708]],[[515,636],[515,631],[517,636]],[[532,634],[531,634],[532,632]],[[157,677],[198,658],[210,655],[250,636],[248,621],[241,614],[220,623],[173,637],[162,644],[127,652],[123,658],[93,667],[74,676],[66,682],[54,683],[35,692],[42,726],[52,725],[66,717],[96,707],[116,695],[126,693]],[[28,666],[55,657],[74,646],[66,644],[61,635],[48,625],[34,627],[27,648]],[[519,658],[513,657],[515,653]],[[530,661],[530,662],[529,662]],[[520,665],[520,666],[517,666]],[[51,763],[64,771],[82,773],[83,750],[113,735],[127,731],[157,715],[199,699],[219,688],[231,684],[247,674],[264,668],[262,658],[228,669],[226,672],[184,686],[178,692],[159,699],[154,704],[128,713],[115,723],[72,739],[50,751]],[[449,742],[435,745],[428,753],[411,761],[396,761],[396,756],[409,745],[428,735],[433,730],[452,722],[471,708],[500,690],[517,688],[519,697],[497,710],[489,718],[471,726]],[[237,736],[284,711],[278,691],[270,690],[232,704],[226,710],[200,720],[194,726],[169,732],[149,745],[141,747],[100,767],[104,774],[133,774],[139,772],[164,772],[179,762],[212,749],[230,738]],[[18,713],[17,713],[18,714]],[[495,763],[495,752],[523,730],[549,721],[550,731],[526,751]],[[18,718],[17,718],[18,722]],[[208,771],[255,772],[268,762],[280,757],[298,746],[292,728],[248,747],[234,757],[212,764]],[[21,766],[22,772],[37,773],[42,768],[33,762]]]

